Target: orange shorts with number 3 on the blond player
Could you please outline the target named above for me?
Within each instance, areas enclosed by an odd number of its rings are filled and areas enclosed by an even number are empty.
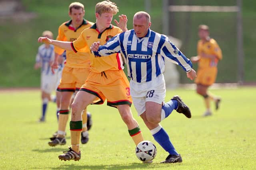
[[[101,73],[90,72],[80,90],[100,98],[100,102],[94,104],[103,104],[107,99],[107,105],[112,107],[122,104],[132,105],[129,81],[123,70],[106,70]]]

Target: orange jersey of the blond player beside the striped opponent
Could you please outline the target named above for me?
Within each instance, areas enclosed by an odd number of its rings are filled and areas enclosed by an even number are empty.
[[[121,33],[122,29],[110,25],[102,33],[96,27],[96,23],[90,28],[85,29],[82,34],[71,43],[74,52],[89,52],[92,43],[100,41],[100,45],[104,45],[112,37]],[[124,69],[123,61],[120,53],[114,53],[108,57],[96,57],[94,53],[90,53],[90,71],[104,72],[106,70],[122,70]]]

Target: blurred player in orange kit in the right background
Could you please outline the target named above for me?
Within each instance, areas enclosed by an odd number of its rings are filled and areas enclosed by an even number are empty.
[[[220,97],[208,92],[208,88],[215,82],[217,76],[217,64],[222,59],[222,52],[217,42],[210,38],[209,27],[199,25],[198,35],[200,40],[197,45],[196,57],[191,57],[192,63],[198,63],[196,92],[204,97],[206,111],[203,116],[212,115],[210,100],[215,102],[216,110],[219,108]]]

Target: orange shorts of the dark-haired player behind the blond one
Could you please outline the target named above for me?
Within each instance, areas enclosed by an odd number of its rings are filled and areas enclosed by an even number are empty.
[[[75,92],[84,84],[89,75],[90,68],[72,68],[64,66],[58,91]]]

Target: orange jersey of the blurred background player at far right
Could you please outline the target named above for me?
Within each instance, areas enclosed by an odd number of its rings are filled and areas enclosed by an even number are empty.
[[[217,67],[218,61],[222,59],[221,49],[218,43],[212,38],[206,42],[199,40],[197,44],[197,53],[200,59],[198,63],[199,68]],[[200,57],[202,53],[205,53],[206,55],[215,55],[216,58],[212,60],[210,58]]]

